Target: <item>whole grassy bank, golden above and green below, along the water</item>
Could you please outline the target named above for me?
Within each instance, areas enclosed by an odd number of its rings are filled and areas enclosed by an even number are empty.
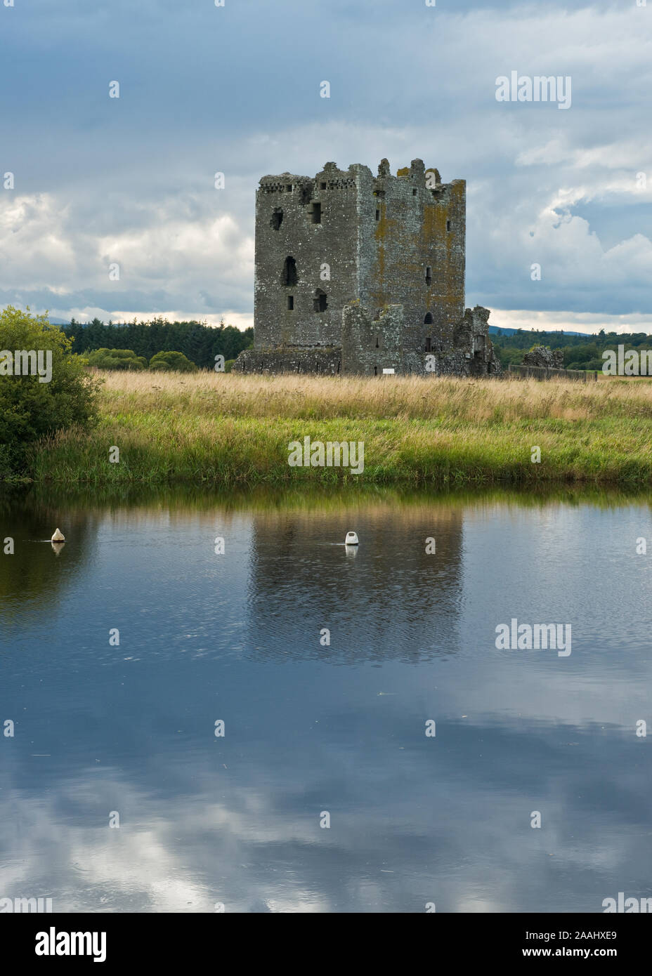
[[[41,442],[40,483],[652,485],[652,384],[103,374],[101,419]],[[363,441],[364,473],[288,444]],[[120,450],[109,463],[109,448]],[[531,449],[541,448],[541,464]]]

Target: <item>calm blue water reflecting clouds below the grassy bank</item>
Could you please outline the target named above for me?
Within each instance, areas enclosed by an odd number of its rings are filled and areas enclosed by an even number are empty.
[[[0,896],[421,913],[652,894],[645,500],[41,496],[0,505],[7,536]],[[498,650],[511,618],[570,623],[571,655]]]

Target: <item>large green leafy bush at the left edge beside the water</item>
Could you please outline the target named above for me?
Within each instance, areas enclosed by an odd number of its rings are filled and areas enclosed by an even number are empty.
[[[0,479],[19,473],[29,445],[73,424],[90,426],[97,416],[99,384],[71,355],[72,341],[47,315],[30,315],[9,305],[0,312]],[[41,353],[52,373],[16,375],[16,350]],[[8,355],[10,353],[11,355]]]

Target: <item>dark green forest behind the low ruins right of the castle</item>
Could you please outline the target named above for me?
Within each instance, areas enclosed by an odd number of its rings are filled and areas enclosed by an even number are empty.
[[[617,350],[618,346],[628,349],[652,349],[652,336],[644,332],[616,333],[601,329],[596,335],[568,336],[563,332],[525,332],[517,329],[512,335],[500,329],[492,333],[491,342],[503,366],[520,363],[523,353],[532,346],[549,346],[561,349],[566,369],[598,369],[604,364],[602,352],[605,349]]]

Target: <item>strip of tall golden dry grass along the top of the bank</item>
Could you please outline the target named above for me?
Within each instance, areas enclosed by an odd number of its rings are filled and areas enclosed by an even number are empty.
[[[604,416],[652,418],[652,384],[605,379],[467,380],[445,377],[239,376],[203,372],[100,374],[109,413],[189,410],[215,417],[439,418],[511,423],[580,421]]]

